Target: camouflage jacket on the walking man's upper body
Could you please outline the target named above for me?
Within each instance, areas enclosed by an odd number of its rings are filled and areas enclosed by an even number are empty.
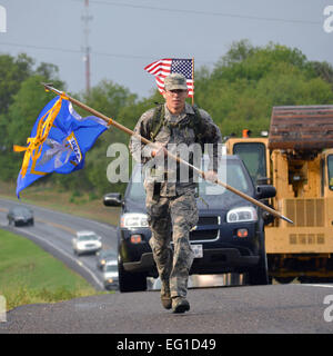
[[[154,116],[154,108],[145,111],[141,118],[139,119],[134,132],[139,134],[140,136],[147,138],[150,140],[150,134],[151,134],[151,125],[152,119]],[[190,155],[186,158],[182,157],[182,155],[179,155],[178,148],[183,147],[182,145],[185,145],[186,147],[191,147],[193,144],[198,144],[198,139],[195,138],[195,132],[192,128],[186,127],[186,120],[193,119],[194,110],[192,106],[185,103],[184,112],[179,116],[173,116],[167,108],[167,105],[164,103],[164,110],[165,110],[165,123],[161,127],[158,135],[155,136],[155,141],[161,142],[167,146],[167,149],[171,151],[172,154],[178,154],[181,158],[189,161],[190,164],[193,164],[191,159],[193,158]],[[218,171],[218,164],[219,164],[219,149],[221,149],[220,145],[222,142],[222,137],[219,127],[213,122],[210,115],[202,110],[200,110],[200,116],[202,120],[202,132],[201,132],[201,139],[200,145],[201,147],[204,144],[211,144],[209,145],[209,156],[210,156],[210,162],[208,169],[214,169]],[[130,151],[134,159],[138,162],[148,164],[147,167],[152,167],[157,162],[152,162],[152,156],[151,152],[153,150],[153,147],[150,147],[149,145],[144,145],[141,142],[141,140],[134,136],[130,139],[129,145]],[[186,157],[186,155],[185,155]],[[175,162],[173,162],[175,165]],[[164,179],[159,180],[161,181],[161,189],[160,189],[160,196],[162,197],[173,197],[176,195],[181,195],[188,189],[194,189],[195,182],[192,178],[189,180],[181,180],[179,177],[179,174],[176,175],[178,169],[175,169],[175,166],[172,165],[172,162],[169,162],[169,166],[167,165],[165,160],[162,165],[154,165],[154,167],[159,167],[164,175]],[[196,166],[196,165],[195,165]],[[176,167],[179,168],[179,167]],[[167,178],[168,176],[168,178]],[[161,177],[161,176],[159,176]],[[151,190],[153,189],[154,181],[157,181],[155,177],[149,176],[144,180],[145,189]]]

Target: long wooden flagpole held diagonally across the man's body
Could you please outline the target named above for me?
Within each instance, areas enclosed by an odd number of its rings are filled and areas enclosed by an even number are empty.
[[[101,119],[104,120],[108,125],[112,125],[112,126],[119,128],[120,130],[127,132],[128,135],[134,136],[134,137],[139,138],[139,139],[140,139],[143,144],[145,144],[145,145],[155,146],[152,141],[148,140],[147,138],[144,138],[144,137],[135,134],[134,131],[132,131],[132,130],[130,130],[129,128],[127,128],[125,126],[123,126],[123,125],[114,121],[113,119],[108,118],[105,115],[103,115],[103,113],[101,113],[101,112],[99,112],[99,111],[90,108],[88,105],[85,105],[85,103],[83,103],[83,102],[81,102],[81,101],[79,101],[79,100],[77,100],[77,99],[68,96],[68,95],[64,93],[63,91],[60,91],[60,90],[58,90],[58,89],[56,89],[56,88],[53,88],[53,87],[51,87],[50,85],[47,85],[47,83],[42,83],[42,85],[44,86],[44,88],[46,88],[47,90],[50,90],[50,91],[57,93],[58,96],[63,96],[63,97],[65,97],[69,101],[71,101],[72,103],[77,105],[77,106],[80,107],[81,109],[83,109],[83,110],[85,110],[85,111],[88,111],[88,112],[90,112],[90,113],[92,113],[92,115],[101,118]],[[165,148],[163,148],[163,150],[164,150],[164,154],[165,154],[165,155],[168,155],[169,157],[173,158],[173,159],[176,160],[179,164],[186,165],[186,166],[191,167],[191,168],[192,168],[193,170],[195,170],[203,179],[205,179],[205,177],[204,177],[204,171],[203,171],[203,170],[201,170],[201,169],[196,168],[195,166],[186,162],[185,160],[181,159],[180,157],[176,157],[176,156],[170,154]],[[279,211],[276,211],[276,210],[268,207],[266,205],[264,205],[264,204],[262,204],[261,201],[259,201],[259,200],[256,200],[256,199],[248,196],[246,194],[244,194],[244,192],[242,192],[242,191],[240,191],[240,190],[231,187],[230,185],[225,184],[224,181],[221,181],[220,179],[215,179],[213,182],[216,184],[216,185],[219,185],[219,186],[224,187],[225,189],[234,192],[235,195],[244,198],[245,200],[248,200],[248,201],[256,205],[258,207],[260,207],[260,208],[269,211],[270,214],[272,214],[272,215],[275,216],[276,218],[281,218],[281,219],[283,219],[283,220],[287,221],[287,222],[293,224],[293,221],[292,221],[291,219],[286,218],[285,216],[283,216],[283,215],[280,214]]]

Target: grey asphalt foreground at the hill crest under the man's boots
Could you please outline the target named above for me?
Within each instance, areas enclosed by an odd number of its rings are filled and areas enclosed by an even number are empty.
[[[190,289],[189,300],[191,310],[178,315],[162,308],[157,290],[28,305],[9,312],[7,323],[0,323],[0,333],[333,333],[333,285]]]

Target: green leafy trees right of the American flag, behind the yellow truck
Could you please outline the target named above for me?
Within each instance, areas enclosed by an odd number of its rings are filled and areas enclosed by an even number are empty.
[[[214,69],[195,72],[195,102],[222,134],[259,135],[270,127],[273,106],[332,103],[332,67],[311,62],[296,48],[235,42]]]

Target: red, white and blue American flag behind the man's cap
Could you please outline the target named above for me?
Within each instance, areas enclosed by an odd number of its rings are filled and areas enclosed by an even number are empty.
[[[194,96],[192,59],[164,58],[148,65],[147,67],[144,67],[144,70],[155,77],[158,88],[161,93],[164,91],[165,77],[171,73],[183,75],[186,78],[189,97],[192,98]]]

